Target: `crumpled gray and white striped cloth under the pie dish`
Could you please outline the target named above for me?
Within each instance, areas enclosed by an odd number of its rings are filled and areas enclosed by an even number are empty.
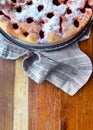
[[[81,40],[89,38],[89,33]],[[51,52],[29,52],[14,45],[0,34],[0,57],[15,60],[24,55],[23,68],[36,83],[47,80],[69,95],[86,84],[92,63],[78,43]]]

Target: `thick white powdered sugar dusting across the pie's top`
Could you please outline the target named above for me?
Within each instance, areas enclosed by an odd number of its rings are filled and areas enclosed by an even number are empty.
[[[4,0],[2,0],[4,3]],[[59,0],[60,1],[60,0]],[[26,22],[27,18],[32,18],[33,22],[37,23],[38,35],[39,31],[44,32],[44,38],[39,38],[39,42],[45,41],[50,32],[55,32],[58,36],[63,37],[63,32],[60,32],[60,26],[62,26],[62,31],[65,31],[66,26],[73,24],[74,19],[76,19],[80,14],[80,9],[84,8],[86,0],[68,0],[67,3],[60,3],[59,5],[54,5],[53,0],[32,0],[31,5],[25,2],[18,2],[16,6],[21,6],[21,12],[14,12],[14,19],[16,21]],[[38,7],[42,9],[38,10]],[[67,14],[67,8],[71,9],[71,14]],[[52,16],[47,17],[47,14],[52,14]],[[65,19],[64,24],[60,25],[60,17]],[[39,21],[44,21],[41,26]],[[32,24],[32,23],[28,23]],[[67,27],[68,27],[67,26]]]

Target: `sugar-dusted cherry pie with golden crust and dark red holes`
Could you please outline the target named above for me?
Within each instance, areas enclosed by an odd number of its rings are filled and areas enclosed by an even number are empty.
[[[76,36],[92,17],[93,0],[0,0],[0,27],[31,44]]]

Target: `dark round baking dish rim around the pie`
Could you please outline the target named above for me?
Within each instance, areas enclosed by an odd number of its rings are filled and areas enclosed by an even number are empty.
[[[63,47],[66,47],[72,43],[75,43],[78,41],[84,34],[87,33],[87,31],[93,26],[93,18],[89,21],[87,26],[75,37],[71,38],[70,40],[67,40],[65,42],[60,42],[57,43],[56,45],[33,45],[33,44],[28,44],[22,41],[19,41],[15,39],[14,37],[10,36],[7,34],[3,29],[0,28],[0,33],[4,35],[9,41],[13,42],[14,44],[25,48],[29,51],[53,51],[57,49],[61,49]]]

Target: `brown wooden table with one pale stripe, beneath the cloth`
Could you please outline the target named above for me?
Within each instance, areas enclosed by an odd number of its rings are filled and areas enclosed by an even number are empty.
[[[93,63],[93,29],[80,48]],[[93,75],[73,97],[49,82],[37,85],[16,61],[0,58],[0,130],[92,130]]]

